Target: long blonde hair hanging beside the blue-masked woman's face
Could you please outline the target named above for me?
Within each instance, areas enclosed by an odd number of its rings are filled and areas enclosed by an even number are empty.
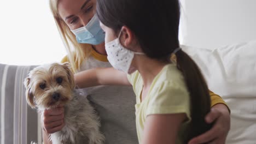
[[[90,44],[79,44],[75,35],[70,31],[69,27],[60,17],[57,5],[59,0],[50,0],[50,9],[53,13],[55,23],[61,35],[62,41],[65,45],[66,51],[68,53],[68,61],[71,64],[73,72],[77,72],[80,69],[80,65],[84,59],[88,58],[91,54]]]

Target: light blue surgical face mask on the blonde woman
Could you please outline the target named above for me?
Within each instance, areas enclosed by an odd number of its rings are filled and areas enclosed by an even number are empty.
[[[71,32],[74,33],[78,43],[98,45],[103,43],[105,38],[97,15],[94,15],[86,26],[71,30]]]

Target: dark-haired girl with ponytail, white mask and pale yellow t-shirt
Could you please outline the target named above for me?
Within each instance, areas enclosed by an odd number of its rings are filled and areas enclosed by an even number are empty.
[[[178,0],[98,0],[97,16],[117,70],[82,71],[75,75],[77,85],[132,85],[139,143],[188,143],[209,130],[208,87],[179,48]]]

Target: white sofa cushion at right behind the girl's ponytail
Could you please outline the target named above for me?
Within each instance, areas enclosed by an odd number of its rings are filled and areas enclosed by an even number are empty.
[[[181,46],[199,65],[209,88],[231,109],[226,143],[256,142],[256,40],[213,51]]]

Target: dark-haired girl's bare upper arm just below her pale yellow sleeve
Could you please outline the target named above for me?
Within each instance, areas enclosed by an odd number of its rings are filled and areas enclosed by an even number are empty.
[[[175,143],[185,113],[149,115],[144,125],[142,144]]]

